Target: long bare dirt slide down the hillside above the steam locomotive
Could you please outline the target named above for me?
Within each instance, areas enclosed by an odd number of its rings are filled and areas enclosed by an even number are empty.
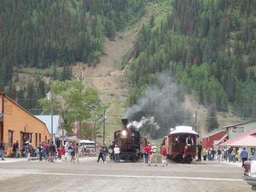
[[[140,31],[141,26],[150,18],[147,13],[140,19],[136,26],[122,34],[116,35],[113,39],[104,37],[104,55],[100,57],[100,62],[96,67],[88,67],[82,64],[84,71],[84,84],[91,85],[98,90],[100,104],[108,105],[106,109],[106,124],[110,129],[106,131],[106,141],[113,138],[113,131],[120,129],[122,126],[121,118],[125,112],[125,108],[120,107],[128,99],[129,70],[119,70],[118,61],[124,54],[132,49],[136,35]],[[150,15],[151,16],[151,15]],[[122,38],[119,38],[122,35]],[[81,72],[81,63],[73,68],[74,76],[79,76]]]

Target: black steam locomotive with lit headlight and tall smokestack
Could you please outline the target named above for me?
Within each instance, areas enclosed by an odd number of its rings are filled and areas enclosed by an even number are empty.
[[[142,138],[139,131],[135,127],[127,127],[128,119],[122,119],[122,129],[114,133],[114,140],[112,145],[109,146],[109,157],[115,160],[113,148],[118,145],[120,148],[121,161],[136,161],[143,157],[143,150],[148,145],[147,139]]]

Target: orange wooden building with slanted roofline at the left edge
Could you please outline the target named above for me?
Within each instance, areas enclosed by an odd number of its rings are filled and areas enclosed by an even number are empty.
[[[50,143],[51,134],[44,122],[0,92],[0,139],[4,141],[4,156],[11,156],[14,141],[20,150],[25,141],[38,146],[42,141]]]

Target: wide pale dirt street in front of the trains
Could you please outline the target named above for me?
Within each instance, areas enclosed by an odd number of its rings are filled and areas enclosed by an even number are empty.
[[[251,191],[241,179],[243,168],[232,163],[168,161],[163,167],[109,159],[97,164],[97,157],[80,163],[7,161],[0,161],[1,191]]]

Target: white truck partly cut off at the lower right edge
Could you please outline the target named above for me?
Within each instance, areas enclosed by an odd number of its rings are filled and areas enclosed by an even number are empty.
[[[252,185],[252,190],[256,191],[256,153],[250,161],[244,162],[243,180]]]

